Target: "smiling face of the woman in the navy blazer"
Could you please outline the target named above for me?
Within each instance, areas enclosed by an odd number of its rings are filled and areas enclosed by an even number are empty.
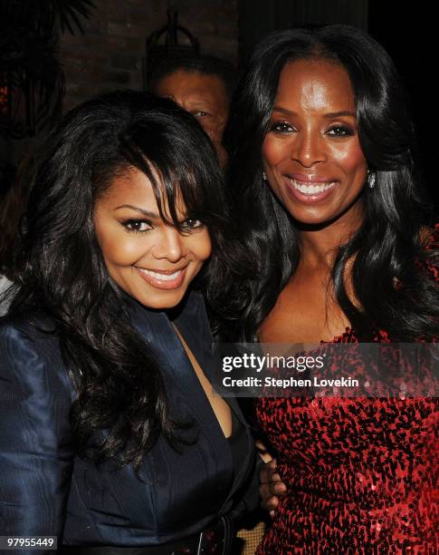
[[[181,232],[161,219],[151,182],[134,168],[95,204],[94,229],[110,277],[148,308],[176,307],[211,252],[205,226],[182,207],[177,215]]]

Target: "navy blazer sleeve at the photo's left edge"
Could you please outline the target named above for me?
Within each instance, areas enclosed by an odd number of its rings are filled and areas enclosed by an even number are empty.
[[[0,535],[50,535],[62,543],[74,456],[71,405],[53,338],[0,324]]]

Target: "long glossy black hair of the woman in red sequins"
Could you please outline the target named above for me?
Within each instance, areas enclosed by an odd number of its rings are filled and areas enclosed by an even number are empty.
[[[399,340],[431,339],[438,335],[439,298],[433,281],[418,271],[433,255],[422,244],[426,203],[415,172],[406,93],[385,50],[366,33],[341,24],[270,34],[256,47],[235,93],[224,141],[240,232],[255,264],[240,287],[234,284],[239,290],[235,326],[229,322],[224,337],[256,340],[299,263],[297,225],[262,180],[261,151],[282,68],[301,59],[338,63],[348,73],[359,141],[369,170],[377,175],[375,188],[363,191],[362,225],[339,246],[332,266],[339,306],[364,340],[377,328]],[[360,307],[343,279],[352,258]]]

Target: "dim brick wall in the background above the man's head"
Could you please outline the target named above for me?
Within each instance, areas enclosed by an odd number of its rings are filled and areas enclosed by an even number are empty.
[[[167,7],[196,36],[203,54],[237,62],[238,0],[94,0],[85,34],[62,35],[66,77],[64,108],[114,89],[142,89],[145,39],[167,23]]]

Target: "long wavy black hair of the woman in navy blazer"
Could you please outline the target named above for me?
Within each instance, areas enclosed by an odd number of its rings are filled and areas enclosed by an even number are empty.
[[[109,276],[93,229],[96,200],[132,168],[147,175],[162,217],[166,201],[177,229],[180,199],[189,217],[204,222],[213,246],[207,280],[214,282],[212,273],[221,279],[224,273],[215,268],[228,227],[224,188],[205,132],[174,102],[109,93],[73,109],[43,145],[10,312],[36,314],[37,324],[49,316],[49,329],[53,324],[78,387],[71,414],[78,453],[138,468],[159,433],[175,446],[184,441],[185,423],[170,414],[159,362],[130,325],[124,294]],[[105,441],[91,449],[91,438],[102,430]]]

